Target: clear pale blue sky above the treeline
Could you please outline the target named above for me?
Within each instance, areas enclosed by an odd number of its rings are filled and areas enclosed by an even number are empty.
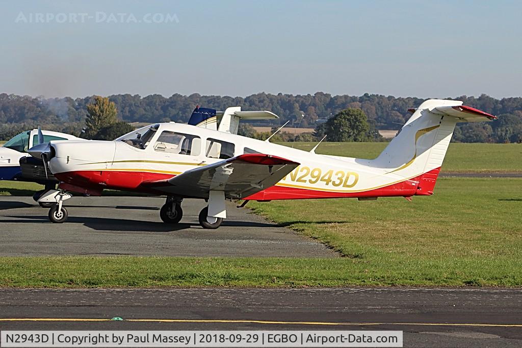
[[[2,1],[0,93],[521,96],[521,14],[520,1]]]

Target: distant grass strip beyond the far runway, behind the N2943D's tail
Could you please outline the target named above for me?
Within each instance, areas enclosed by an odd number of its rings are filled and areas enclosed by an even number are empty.
[[[283,143],[292,146],[291,142]],[[376,158],[387,142],[324,142],[317,153],[355,158]],[[310,150],[315,143],[296,142],[294,147]],[[522,172],[522,144],[450,143],[442,172]]]

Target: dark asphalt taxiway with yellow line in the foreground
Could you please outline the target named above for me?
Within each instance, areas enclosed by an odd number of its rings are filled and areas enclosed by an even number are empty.
[[[0,289],[1,330],[402,330],[408,347],[520,347],[520,313],[519,289]]]

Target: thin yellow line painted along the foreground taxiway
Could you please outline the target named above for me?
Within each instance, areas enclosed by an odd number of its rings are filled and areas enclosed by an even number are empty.
[[[0,318],[0,321],[112,321],[90,318]],[[133,322],[192,322],[192,323],[255,323],[271,325],[324,325],[324,326],[472,326],[472,327],[522,327],[522,324],[451,323],[451,322],[325,322],[325,321],[271,321],[271,320],[227,320],[227,319],[124,319]]]

